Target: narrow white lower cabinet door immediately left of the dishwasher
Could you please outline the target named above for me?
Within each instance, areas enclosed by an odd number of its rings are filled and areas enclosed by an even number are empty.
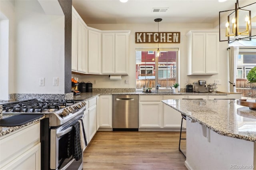
[[[112,128],[112,95],[100,96],[100,127]]]

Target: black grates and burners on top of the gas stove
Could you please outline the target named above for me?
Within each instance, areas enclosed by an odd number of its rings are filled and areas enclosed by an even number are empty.
[[[24,101],[16,101],[3,105],[3,112],[26,112],[26,113],[43,113],[54,112],[61,108],[75,104],[74,100],[48,100],[38,101],[30,99]]]

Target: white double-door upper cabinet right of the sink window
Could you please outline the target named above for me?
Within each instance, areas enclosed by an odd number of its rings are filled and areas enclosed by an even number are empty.
[[[218,30],[192,30],[186,35],[188,36],[188,75],[218,74]]]

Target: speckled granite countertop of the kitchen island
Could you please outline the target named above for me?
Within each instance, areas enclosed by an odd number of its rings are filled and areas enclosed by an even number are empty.
[[[236,100],[170,99],[162,102],[218,134],[256,142],[256,111],[237,105]]]

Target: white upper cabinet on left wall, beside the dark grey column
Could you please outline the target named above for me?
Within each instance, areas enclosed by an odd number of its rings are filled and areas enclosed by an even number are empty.
[[[88,30],[86,24],[72,8],[72,71],[87,73],[88,71]]]

